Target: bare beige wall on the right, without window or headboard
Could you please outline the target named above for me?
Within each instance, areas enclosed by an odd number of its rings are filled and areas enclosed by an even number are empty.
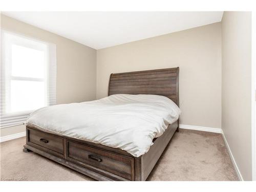
[[[222,18],[222,130],[244,180],[251,180],[251,13]]]

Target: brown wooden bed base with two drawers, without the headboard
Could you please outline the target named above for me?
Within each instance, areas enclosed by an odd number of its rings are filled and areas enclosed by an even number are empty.
[[[146,154],[134,157],[118,148],[27,126],[27,142],[23,151],[33,151],[100,181],[145,181],[177,127],[177,121],[169,125]]]

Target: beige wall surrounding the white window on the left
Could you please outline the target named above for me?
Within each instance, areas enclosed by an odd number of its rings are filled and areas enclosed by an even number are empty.
[[[1,28],[56,44],[57,103],[96,98],[96,50],[54,33],[25,24],[1,14]],[[25,131],[24,126],[1,130],[1,136]]]

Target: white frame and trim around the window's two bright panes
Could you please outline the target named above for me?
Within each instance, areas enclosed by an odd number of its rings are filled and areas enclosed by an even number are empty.
[[[6,45],[6,41],[3,38],[5,34],[15,35],[17,39],[14,41],[8,40],[10,45]],[[20,37],[33,40],[34,42],[39,42],[38,46],[35,44],[31,44],[29,41],[20,40]],[[19,124],[23,124],[28,115],[32,111],[23,111],[23,112],[14,112],[10,113],[9,107],[10,105],[10,86],[11,80],[26,80],[26,81],[43,81],[45,82],[45,106],[56,104],[56,46],[54,44],[50,44],[48,42],[40,41],[34,38],[30,38],[24,35],[12,33],[6,30],[1,29],[1,46],[8,47],[8,50],[1,49],[1,129],[15,126]],[[41,46],[41,44],[45,44],[46,46]],[[45,60],[45,73],[43,78],[34,78],[34,77],[20,77],[20,76],[12,76],[11,74],[11,46],[23,46],[27,48],[32,48],[35,50],[44,51],[47,53]],[[42,48],[44,47],[44,48]],[[8,61],[4,60],[4,56],[9,58]],[[6,58],[5,58],[6,59]]]

